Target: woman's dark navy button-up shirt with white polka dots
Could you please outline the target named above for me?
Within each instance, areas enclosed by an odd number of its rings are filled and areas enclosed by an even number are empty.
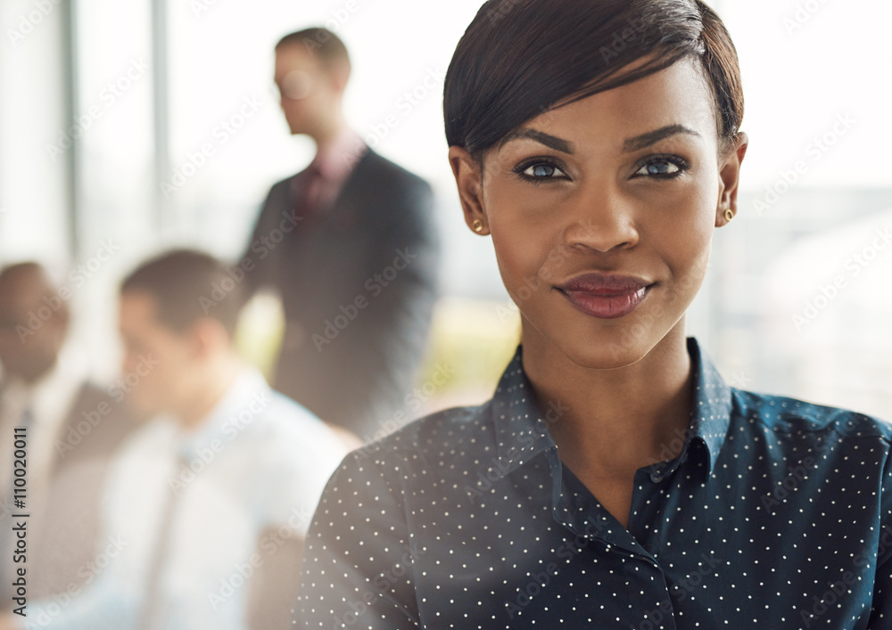
[[[558,458],[521,352],[486,405],[343,461],[307,540],[307,628],[892,628],[890,427],[729,388],[688,340],[681,455],[623,528]]]

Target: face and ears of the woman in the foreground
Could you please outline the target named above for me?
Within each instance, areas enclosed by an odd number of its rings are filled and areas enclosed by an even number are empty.
[[[693,61],[529,120],[450,163],[471,225],[491,233],[524,346],[615,368],[678,326],[714,227],[737,209],[746,139],[719,154],[714,97]]]

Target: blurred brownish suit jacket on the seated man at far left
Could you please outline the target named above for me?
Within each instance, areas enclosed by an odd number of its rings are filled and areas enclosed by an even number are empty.
[[[97,545],[105,546],[98,536],[106,472],[121,441],[136,425],[136,419],[102,389],[81,387],[54,439],[46,509],[30,523],[30,597],[63,593],[97,577]]]

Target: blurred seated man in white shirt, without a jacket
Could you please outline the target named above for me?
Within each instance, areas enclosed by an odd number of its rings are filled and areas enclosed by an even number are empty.
[[[242,303],[226,268],[193,251],[123,282],[124,370],[137,375],[136,404],[156,415],[111,470],[104,568],[62,606],[29,601],[25,627],[289,625],[302,537],[345,449],[236,355]]]

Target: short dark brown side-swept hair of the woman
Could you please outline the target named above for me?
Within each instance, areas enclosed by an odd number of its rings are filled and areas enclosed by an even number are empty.
[[[698,0],[489,0],[446,73],[450,146],[479,160],[529,119],[698,58],[713,86],[723,148],[743,119],[737,51]],[[628,64],[640,61],[635,70]]]

